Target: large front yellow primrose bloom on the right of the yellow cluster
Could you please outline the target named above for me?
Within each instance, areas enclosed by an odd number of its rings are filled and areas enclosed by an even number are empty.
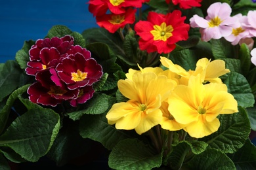
[[[201,138],[217,131],[219,114],[238,112],[238,103],[226,84],[203,85],[200,75],[191,76],[188,86],[178,85],[168,99],[168,110],[191,137]]]

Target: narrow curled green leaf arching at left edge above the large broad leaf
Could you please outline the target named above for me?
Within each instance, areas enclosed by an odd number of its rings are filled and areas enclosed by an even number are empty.
[[[26,92],[26,90],[28,90],[28,86],[30,86],[30,84],[28,84],[26,86],[22,86],[21,88],[18,88],[17,90],[12,92],[12,94],[7,99],[7,103],[6,103],[5,107],[3,107],[2,110],[0,110],[0,134],[3,132],[3,129],[5,129],[5,125],[9,118],[9,113],[10,113],[10,110],[12,108],[14,101],[16,100],[18,95],[20,95],[20,94]]]

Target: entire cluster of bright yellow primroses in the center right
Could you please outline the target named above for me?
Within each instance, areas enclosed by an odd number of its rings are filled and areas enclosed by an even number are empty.
[[[238,103],[219,76],[230,72],[221,59],[199,59],[194,71],[186,71],[170,59],[160,58],[161,67],[129,69],[119,80],[127,102],[115,103],[106,114],[117,129],[135,129],[141,135],[160,124],[169,131],[184,129],[201,138],[218,130],[219,114],[238,112]]]

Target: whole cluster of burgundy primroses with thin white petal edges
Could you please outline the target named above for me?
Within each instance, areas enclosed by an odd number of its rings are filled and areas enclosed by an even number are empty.
[[[73,37],[39,39],[29,54],[26,73],[36,80],[28,88],[30,101],[53,107],[69,101],[76,107],[93,97],[92,85],[102,76],[102,67],[91,52],[74,46]]]

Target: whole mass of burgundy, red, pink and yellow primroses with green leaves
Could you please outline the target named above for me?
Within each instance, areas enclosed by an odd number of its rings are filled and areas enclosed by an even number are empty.
[[[54,25],[1,63],[1,169],[93,152],[110,169],[255,169],[254,1],[89,11],[100,27]]]

